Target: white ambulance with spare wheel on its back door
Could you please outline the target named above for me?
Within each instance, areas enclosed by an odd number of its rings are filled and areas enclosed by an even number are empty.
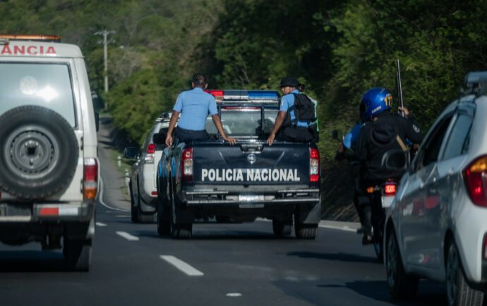
[[[61,248],[88,271],[95,233],[95,112],[80,49],[0,35],[0,241]]]

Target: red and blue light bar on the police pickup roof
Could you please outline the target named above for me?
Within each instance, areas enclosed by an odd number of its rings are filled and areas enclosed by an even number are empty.
[[[279,93],[274,90],[205,90],[217,102],[278,103]]]

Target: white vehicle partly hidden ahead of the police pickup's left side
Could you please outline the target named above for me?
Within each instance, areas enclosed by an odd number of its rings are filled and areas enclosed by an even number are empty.
[[[133,223],[152,223],[155,221],[157,207],[156,171],[157,163],[161,159],[164,145],[157,145],[153,137],[169,127],[172,113],[163,113],[156,119],[140,149],[126,148],[127,158],[137,159],[133,164],[129,183],[131,193],[131,219]],[[157,142],[162,143],[162,142]]]

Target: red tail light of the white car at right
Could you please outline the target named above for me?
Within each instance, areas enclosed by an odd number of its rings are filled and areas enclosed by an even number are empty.
[[[486,173],[487,155],[475,159],[463,171],[471,202],[483,207],[487,207]]]

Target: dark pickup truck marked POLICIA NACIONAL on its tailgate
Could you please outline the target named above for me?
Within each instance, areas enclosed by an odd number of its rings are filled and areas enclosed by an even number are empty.
[[[314,239],[321,217],[320,154],[314,143],[267,139],[279,111],[273,91],[210,90],[229,145],[210,140],[164,149],[157,168],[157,231],[190,238],[194,222],[272,220],[275,235]],[[211,121],[210,121],[211,122]],[[208,123],[208,121],[207,121]],[[164,139],[164,137],[161,137]]]

